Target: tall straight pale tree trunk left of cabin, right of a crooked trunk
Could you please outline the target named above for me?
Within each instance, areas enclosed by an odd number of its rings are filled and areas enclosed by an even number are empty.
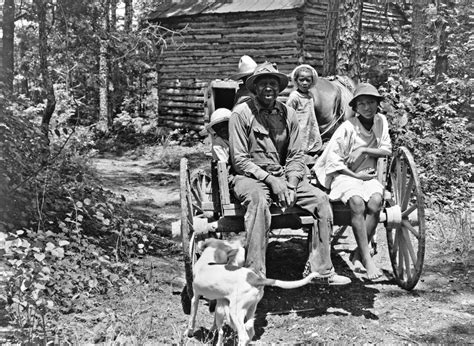
[[[99,123],[98,128],[102,132],[108,132],[111,125],[109,115],[109,64],[108,64],[108,39],[109,39],[109,10],[110,0],[104,1],[104,11],[102,17],[102,35],[100,38],[99,53]]]

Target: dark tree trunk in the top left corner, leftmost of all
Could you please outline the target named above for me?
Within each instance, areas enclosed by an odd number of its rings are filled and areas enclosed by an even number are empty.
[[[15,36],[15,2],[14,0],[5,0],[3,4],[3,49],[2,80],[5,83],[5,91],[8,94],[13,93],[13,40]]]

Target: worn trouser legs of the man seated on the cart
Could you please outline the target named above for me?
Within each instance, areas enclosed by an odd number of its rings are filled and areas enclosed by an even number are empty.
[[[236,198],[246,207],[245,230],[247,232],[247,258],[245,265],[257,273],[265,271],[265,252],[270,231],[272,202],[268,186],[258,180],[236,175],[231,179],[231,188]],[[311,185],[306,179],[296,190],[296,206],[308,211],[314,217],[309,262],[311,271],[328,273],[331,262],[332,209],[327,195]]]

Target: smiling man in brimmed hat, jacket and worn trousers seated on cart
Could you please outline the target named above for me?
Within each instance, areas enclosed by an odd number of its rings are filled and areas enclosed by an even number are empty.
[[[297,206],[314,217],[311,251],[303,275],[318,273],[318,281],[345,285],[331,262],[332,210],[327,195],[306,178],[304,153],[295,111],[277,101],[288,77],[264,63],[247,79],[256,95],[234,107],[230,121],[231,189],[246,208],[245,265],[265,276],[265,252],[270,231],[270,205]]]

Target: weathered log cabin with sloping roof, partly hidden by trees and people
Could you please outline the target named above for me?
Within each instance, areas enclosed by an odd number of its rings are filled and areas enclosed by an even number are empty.
[[[322,74],[325,47],[331,46],[327,32],[334,25],[329,5],[330,0],[161,1],[149,16],[171,37],[156,64],[159,123],[201,130],[212,113],[209,104],[228,108],[237,87],[228,77],[244,54],[257,63],[276,63],[286,74],[300,63]],[[387,71],[397,69],[400,55],[393,25],[388,27],[389,21],[405,20],[397,6],[380,0],[363,5],[362,58]]]

